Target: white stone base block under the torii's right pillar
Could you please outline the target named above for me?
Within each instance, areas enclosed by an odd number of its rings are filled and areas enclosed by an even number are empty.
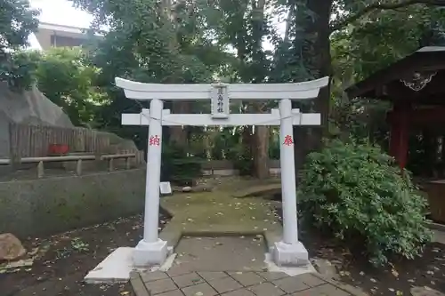
[[[309,254],[300,242],[297,244],[275,243],[273,260],[279,267],[298,267],[309,264]]]

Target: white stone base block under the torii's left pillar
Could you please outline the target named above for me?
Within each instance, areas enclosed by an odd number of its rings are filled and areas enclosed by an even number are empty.
[[[167,242],[158,239],[156,243],[139,242],[133,252],[133,262],[136,268],[147,268],[162,265],[168,255]]]

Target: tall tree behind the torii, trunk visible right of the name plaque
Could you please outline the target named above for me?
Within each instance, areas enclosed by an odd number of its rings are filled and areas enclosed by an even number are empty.
[[[216,15],[209,19],[209,28],[215,28],[215,39],[236,52],[231,82],[265,83],[271,69],[270,52],[264,50],[263,42],[271,36],[271,1],[266,0],[219,0],[212,1]],[[264,112],[269,105],[245,102],[247,112]],[[244,145],[251,146],[254,174],[260,179],[269,175],[269,128],[255,126],[251,134],[244,128]],[[252,138],[252,139],[251,139]]]

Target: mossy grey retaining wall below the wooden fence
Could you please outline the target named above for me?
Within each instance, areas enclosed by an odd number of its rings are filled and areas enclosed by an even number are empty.
[[[0,233],[44,236],[143,212],[145,170],[0,182]]]

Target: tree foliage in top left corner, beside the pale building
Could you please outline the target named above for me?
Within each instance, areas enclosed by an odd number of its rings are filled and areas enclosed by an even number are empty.
[[[0,81],[14,89],[32,83],[32,60],[12,56],[12,52],[28,44],[29,34],[37,27],[37,15],[28,0],[2,0],[0,4]]]

